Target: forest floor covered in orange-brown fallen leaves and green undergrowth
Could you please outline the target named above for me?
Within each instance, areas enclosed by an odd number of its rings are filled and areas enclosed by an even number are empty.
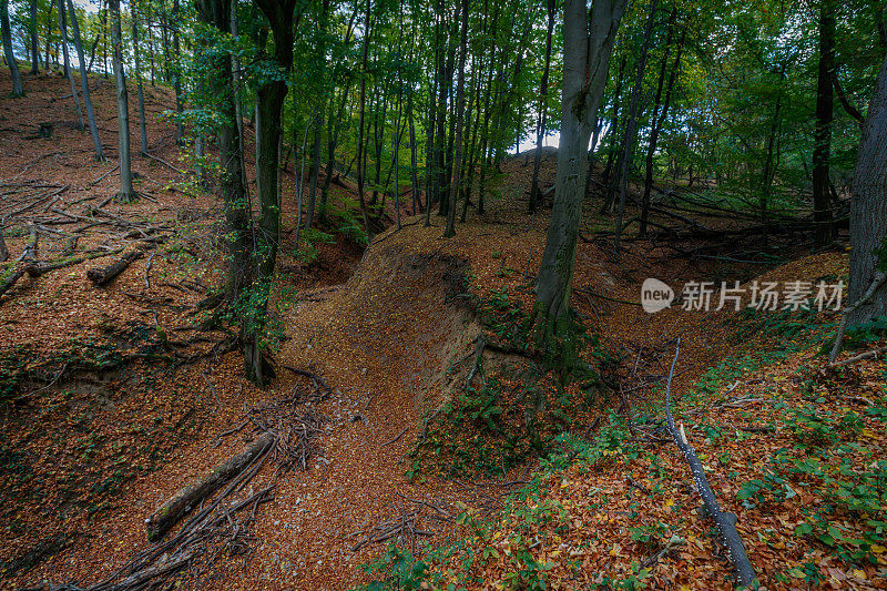
[[[594,396],[572,387],[587,404],[561,408],[569,412],[546,429],[565,424],[584,442],[561,437],[562,451],[540,459],[521,435],[520,380],[506,369],[526,360],[478,347],[481,335],[510,338],[532,303],[548,210],[524,213],[531,154],[503,164],[487,214],[469,210],[456,238],[441,238],[441,218],[424,227],[405,206],[402,230],[366,249],[329,230],[316,252],[294,252],[295,179],[286,173],[269,325],[278,376],[259,390],[243,379],[242,355],[226,350],[225,334],[200,327],[196,306],[223,281],[223,216],[217,198],[182,174],[191,164],[174,125],[159,116],[173,104],[170,93],[145,89],[150,149],[166,164],[136,156],[147,196],[116,204],[104,203],[115,174],[98,181],[112,164],[92,159],[64,80],[26,83],[26,100],[8,99],[8,73],[0,74],[0,216],[12,259],[31,227],[39,261],[71,256],[74,235],[74,253],[150,248],[105,287],[86,271],[120,253],[26,275],[0,298],[3,588],[85,588],[113,574],[151,546],[144,521],[159,505],[252,440],[251,417],[284,407],[317,425],[305,469],[265,467],[249,491],[276,488],[246,522],[249,551],[204,561],[182,574],[184,588],[346,589],[391,568],[404,588],[727,588],[730,563],[656,421],[677,337],[675,414],[722,505],[738,516],[762,582],[887,587],[883,361],[825,367],[834,312],[675,305],[651,315],[639,304],[646,277],[671,286],[846,283],[843,252],[810,256],[803,234],[771,236],[764,249],[759,234],[744,231],[753,220],[710,215],[679,190],[657,203],[685,221],[656,214],[660,232],[626,240],[615,259],[612,218],[595,214],[595,191],[573,302],[599,337],[585,359],[605,366],[610,380],[591,388]],[[112,84],[93,84],[113,161]],[[130,99],[135,122],[134,88]],[[28,139],[41,122],[53,122],[52,137]],[[553,174],[547,151],[542,186]],[[346,225],[354,195],[343,184],[333,185],[325,228]],[[156,235],[164,240],[146,240]],[[869,346],[883,333],[858,338]],[[471,381],[478,350],[481,373]],[[332,393],[322,396],[284,366],[323,377]],[[481,399],[478,411],[471,405],[483,393],[496,400]],[[410,557],[388,550],[394,540]],[[387,570],[360,569],[380,559]]]

